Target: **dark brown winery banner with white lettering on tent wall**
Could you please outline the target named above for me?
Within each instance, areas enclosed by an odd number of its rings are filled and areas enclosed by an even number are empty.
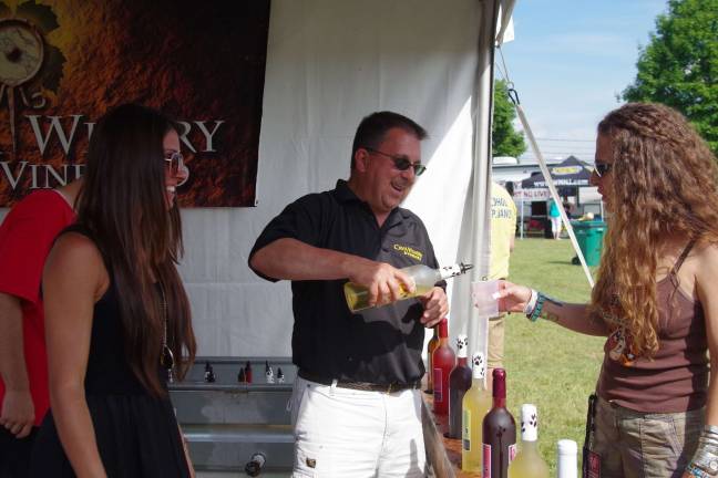
[[[181,125],[185,207],[254,206],[269,0],[0,0],[0,207],[83,173],[107,110]]]

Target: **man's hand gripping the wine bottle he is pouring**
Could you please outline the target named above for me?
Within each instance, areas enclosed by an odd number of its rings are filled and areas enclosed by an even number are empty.
[[[386,263],[357,258],[352,264],[349,281],[369,289],[369,305],[384,305],[396,302],[404,294],[401,288],[413,292],[413,280],[401,270]]]

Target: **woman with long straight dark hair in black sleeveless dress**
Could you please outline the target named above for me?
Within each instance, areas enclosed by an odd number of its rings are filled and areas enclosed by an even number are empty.
[[[51,409],[32,476],[187,477],[166,389],[194,360],[176,269],[174,124],[126,104],[96,124],[78,204],[43,276]]]

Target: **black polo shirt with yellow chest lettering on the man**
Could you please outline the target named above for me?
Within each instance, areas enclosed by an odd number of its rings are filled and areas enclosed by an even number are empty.
[[[336,189],[297,199],[275,217],[255,242],[249,259],[281,238],[361,256],[397,268],[439,267],[421,219],[393,209],[380,228],[369,205],[345,180]],[[276,278],[263,278],[276,281]],[[408,383],[424,373],[421,361],[423,308],[408,299],[351,313],[346,279],[293,281],[293,361],[312,375],[377,384]]]

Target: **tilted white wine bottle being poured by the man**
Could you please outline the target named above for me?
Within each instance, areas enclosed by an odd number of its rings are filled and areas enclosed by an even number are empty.
[[[413,281],[414,291],[409,292],[409,290],[403,284],[399,284],[399,300],[423,295],[429,292],[431,288],[437,284],[437,282],[452,277],[461,276],[472,267],[473,266],[471,264],[458,263],[439,269],[431,269],[429,266],[424,264],[409,266],[408,268],[403,268],[401,269],[401,271],[409,276],[409,278]],[[351,312],[358,312],[371,306],[369,305],[369,289],[363,285],[359,285],[353,282],[347,282],[345,284],[345,297],[347,298],[347,305],[349,305],[349,310]]]

